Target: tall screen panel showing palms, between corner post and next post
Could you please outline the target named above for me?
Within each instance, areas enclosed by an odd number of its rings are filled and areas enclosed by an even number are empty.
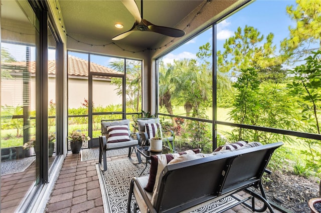
[[[212,117],[212,28],[158,59],[159,112]]]

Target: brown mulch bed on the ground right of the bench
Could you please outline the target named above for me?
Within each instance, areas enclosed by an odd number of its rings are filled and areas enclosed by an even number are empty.
[[[319,185],[315,178],[304,178],[290,172],[274,171],[265,182],[264,189],[269,200],[293,212],[310,212],[309,199],[319,197]]]

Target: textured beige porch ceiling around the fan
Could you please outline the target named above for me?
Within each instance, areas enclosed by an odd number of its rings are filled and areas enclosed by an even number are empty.
[[[129,30],[134,17],[120,0],[58,0],[68,35],[77,34],[112,42],[111,38]],[[135,0],[140,9],[140,0]],[[155,25],[174,27],[204,0],[144,0],[143,18]],[[115,23],[122,23],[118,29]],[[153,48],[165,35],[134,31],[114,41],[119,44]]]

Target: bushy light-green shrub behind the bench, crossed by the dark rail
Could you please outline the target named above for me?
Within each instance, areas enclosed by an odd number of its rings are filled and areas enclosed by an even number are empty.
[[[261,83],[257,78],[258,71],[254,68],[242,69],[233,86],[236,96],[233,101],[231,118],[237,123],[257,126],[288,129],[299,128],[295,122],[293,111],[295,104],[288,98],[283,84]],[[286,136],[253,129],[238,128],[229,133],[232,140],[248,141],[287,141],[293,140]]]

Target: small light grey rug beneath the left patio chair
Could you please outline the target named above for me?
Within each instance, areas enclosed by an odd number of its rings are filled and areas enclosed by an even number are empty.
[[[128,154],[128,148],[120,148],[106,151],[107,156],[118,156],[123,154]],[[81,161],[98,160],[99,157],[99,148],[85,148],[80,151]]]

